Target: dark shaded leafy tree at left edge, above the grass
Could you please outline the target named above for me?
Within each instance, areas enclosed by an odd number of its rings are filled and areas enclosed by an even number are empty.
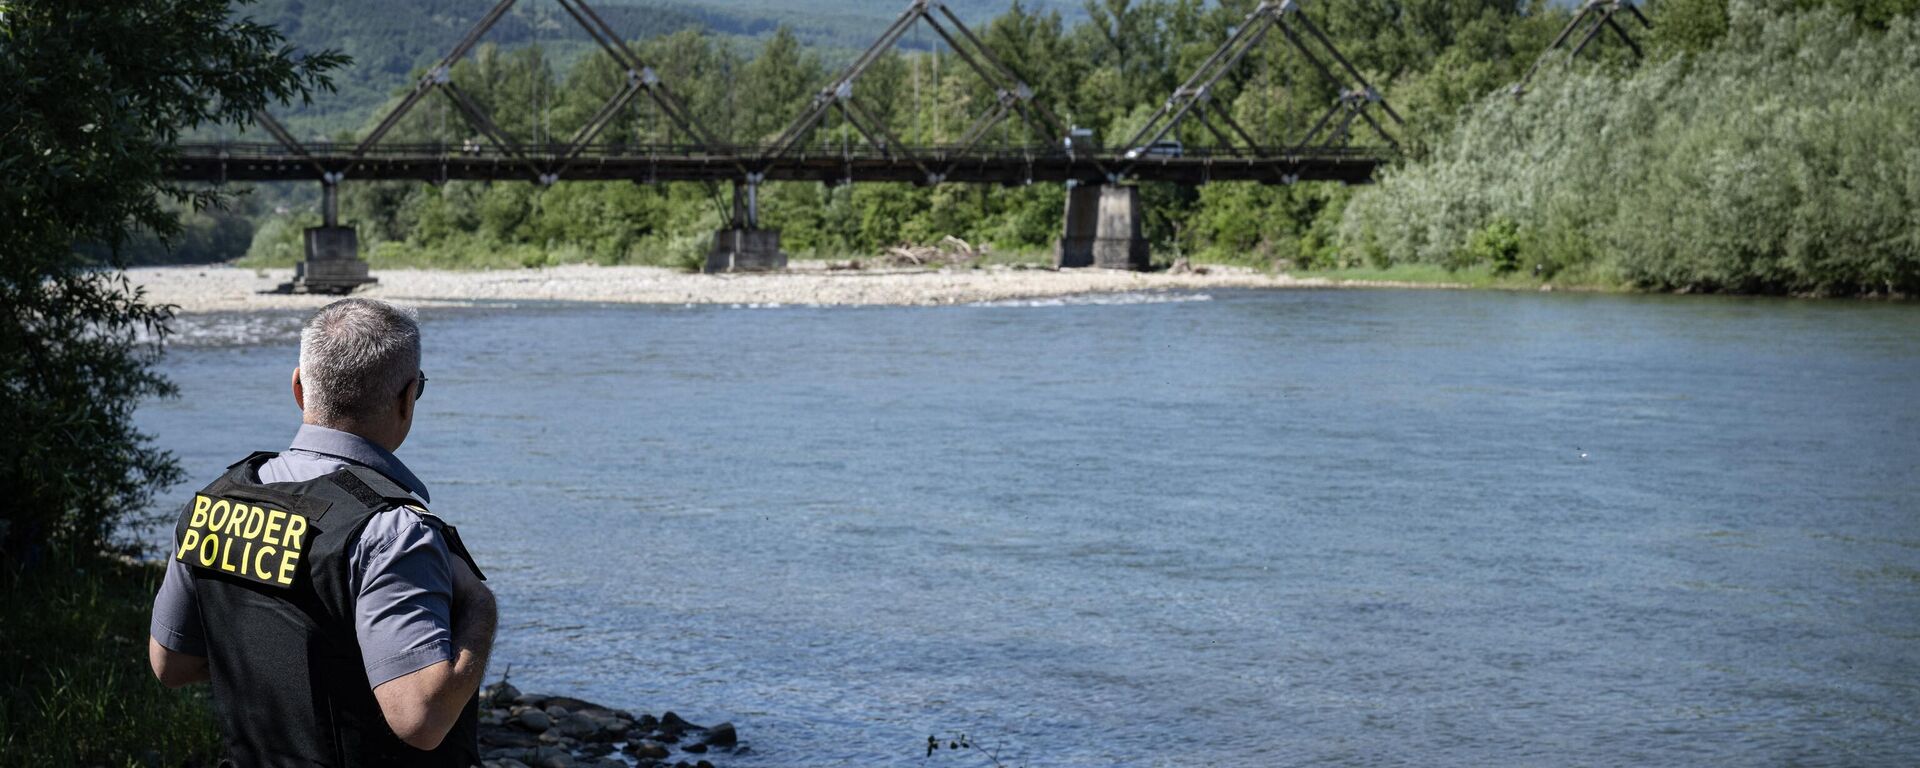
[[[108,545],[180,476],[132,424],[173,392],[152,371],[171,307],[117,273],[123,246],[179,234],[163,202],[221,204],[163,180],[177,136],[305,102],[340,63],[227,0],[0,0],[0,561]]]

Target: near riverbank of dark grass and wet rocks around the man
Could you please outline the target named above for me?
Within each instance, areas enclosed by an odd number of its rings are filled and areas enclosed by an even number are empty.
[[[213,766],[207,685],[167,689],[146,666],[161,568],[121,557],[48,561],[0,574],[0,766]],[[488,685],[488,768],[712,768],[745,755],[733,724],[632,714]]]

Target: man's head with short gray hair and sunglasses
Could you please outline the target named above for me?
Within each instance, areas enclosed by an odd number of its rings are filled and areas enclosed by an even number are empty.
[[[300,330],[294,403],[307,424],[397,449],[420,388],[420,324],[386,301],[340,300]]]

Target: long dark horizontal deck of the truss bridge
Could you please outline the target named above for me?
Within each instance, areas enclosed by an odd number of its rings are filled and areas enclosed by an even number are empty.
[[[492,146],[405,144],[376,146],[353,156],[348,144],[309,144],[298,154],[280,144],[180,144],[169,177],[175,180],[321,180],[340,173],[353,180],[745,180],[760,173],[766,180],[820,182],[916,182],[929,175],[947,182],[1023,184],[1023,182],[1106,182],[1110,179],[1206,184],[1212,180],[1336,180],[1363,184],[1390,159],[1380,150],[1306,152],[1208,152],[1181,156],[1123,157],[1112,152],[1068,154],[1058,148],[968,150],[902,148],[877,152],[847,148],[831,152],[795,150],[785,157],[766,157],[755,148],[707,152],[691,146],[586,146],[568,159],[566,146],[522,148],[515,154]]]

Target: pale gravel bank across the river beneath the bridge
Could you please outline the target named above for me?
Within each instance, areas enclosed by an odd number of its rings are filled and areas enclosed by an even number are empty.
[[[140,267],[127,275],[159,303],[182,313],[315,309],[330,296],[271,294],[292,269]],[[378,284],[355,296],[409,305],[476,301],[611,301],[611,303],[781,303],[781,305],[943,305],[1016,301],[1081,294],[1131,294],[1208,288],[1402,286],[1294,278],[1250,269],[1212,267],[1204,275],[1121,273],[1104,269],[950,269],[833,271],[799,261],[772,275],[687,275],[662,267],[551,267],[501,271],[386,269]]]

